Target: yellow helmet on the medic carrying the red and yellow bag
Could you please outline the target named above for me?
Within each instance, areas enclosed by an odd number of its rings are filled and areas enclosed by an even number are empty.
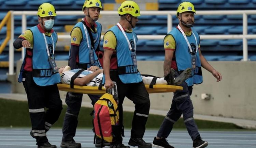
[[[134,17],[138,17],[140,16],[140,7],[134,1],[124,1],[118,8],[118,14],[119,15],[130,14]]]

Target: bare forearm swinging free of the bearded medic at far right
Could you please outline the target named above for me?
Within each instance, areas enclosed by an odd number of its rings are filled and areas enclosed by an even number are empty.
[[[201,50],[198,50],[199,52],[199,57],[200,57],[200,61],[201,61],[201,65],[204,69],[208,70],[209,72],[212,73],[212,75],[217,79],[217,82],[221,81],[222,76],[221,73],[219,73],[217,70],[215,70],[209,63],[208,61],[204,58],[204,56],[202,55]]]

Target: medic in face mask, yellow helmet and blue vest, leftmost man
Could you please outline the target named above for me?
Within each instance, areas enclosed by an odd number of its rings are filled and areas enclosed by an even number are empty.
[[[40,5],[37,15],[38,25],[22,33],[13,46],[24,47],[26,53],[18,81],[23,82],[27,93],[32,124],[30,135],[36,139],[38,148],[56,148],[48,142],[46,132],[62,110],[57,87],[60,74],[54,58],[57,33],[52,29],[57,15],[50,3]]]

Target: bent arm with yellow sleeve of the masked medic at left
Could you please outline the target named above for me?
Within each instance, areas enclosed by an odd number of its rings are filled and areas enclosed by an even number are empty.
[[[17,39],[15,39],[15,41],[13,42],[13,46],[16,49],[19,49],[21,47],[32,48],[31,43],[33,43],[32,32],[30,30],[26,30]]]

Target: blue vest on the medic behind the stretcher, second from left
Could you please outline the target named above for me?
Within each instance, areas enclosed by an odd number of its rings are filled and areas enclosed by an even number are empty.
[[[95,22],[95,23],[97,24],[97,32],[96,33],[91,32],[91,34],[93,36],[93,40],[94,40],[94,49],[93,49],[94,64],[91,64],[91,61],[90,61],[90,50],[91,49],[88,49],[88,44],[87,44],[85,30],[84,30],[84,24],[82,22],[78,22],[74,26],[74,28],[79,27],[81,29],[82,35],[83,35],[83,39],[81,40],[80,45],[79,45],[79,55],[78,55],[79,56],[79,64],[87,65],[87,67],[82,66],[81,68],[83,68],[83,69],[89,68],[90,66],[101,67],[98,57],[95,53],[95,49],[98,47],[99,42],[100,42],[101,24],[98,22]],[[88,30],[87,30],[87,34],[88,34],[89,45],[91,47],[91,40],[90,40]],[[69,55],[70,55],[70,52],[69,52]]]

